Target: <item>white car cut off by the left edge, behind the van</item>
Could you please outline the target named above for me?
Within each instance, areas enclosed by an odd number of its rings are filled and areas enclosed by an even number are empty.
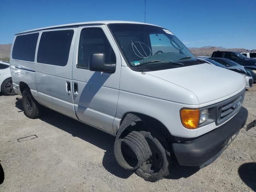
[[[3,61],[0,61],[0,92],[5,95],[16,94],[12,88],[10,64]]]

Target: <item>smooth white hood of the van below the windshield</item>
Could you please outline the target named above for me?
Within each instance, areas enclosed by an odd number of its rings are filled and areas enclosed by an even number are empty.
[[[220,102],[245,88],[244,76],[208,63],[151,71],[146,74],[190,90],[197,96],[200,105]]]

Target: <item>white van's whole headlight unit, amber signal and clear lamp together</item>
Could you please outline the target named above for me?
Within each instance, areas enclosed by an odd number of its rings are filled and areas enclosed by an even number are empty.
[[[181,109],[180,120],[187,129],[196,129],[216,120],[216,108]]]

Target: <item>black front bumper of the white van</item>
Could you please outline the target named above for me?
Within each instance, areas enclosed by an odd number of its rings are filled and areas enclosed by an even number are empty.
[[[189,142],[173,143],[172,148],[179,164],[202,168],[214,162],[236,137],[247,117],[248,111],[242,107],[232,119],[219,128]]]

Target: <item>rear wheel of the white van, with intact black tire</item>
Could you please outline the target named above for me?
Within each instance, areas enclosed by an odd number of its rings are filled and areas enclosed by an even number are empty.
[[[24,114],[31,119],[40,117],[42,106],[34,99],[30,90],[25,88],[22,92],[22,106]]]

